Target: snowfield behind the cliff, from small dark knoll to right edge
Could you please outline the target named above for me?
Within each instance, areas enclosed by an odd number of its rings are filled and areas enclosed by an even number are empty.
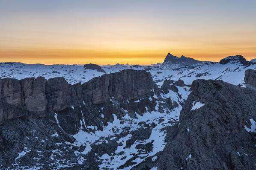
[[[232,57],[229,57],[232,58]],[[185,84],[191,84],[196,79],[223,80],[231,84],[244,84],[244,72],[247,69],[256,69],[256,64],[243,65],[239,58],[233,58],[231,62],[220,64],[217,62],[205,61],[188,66],[179,64],[164,64],[161,66],[140,66],[140,65],[115,65],[104,66],[107,72],[117,72],[122,69],[145,69],[149,71],[153,80],[161,85],[165,79],[177,81],[182,79]]]

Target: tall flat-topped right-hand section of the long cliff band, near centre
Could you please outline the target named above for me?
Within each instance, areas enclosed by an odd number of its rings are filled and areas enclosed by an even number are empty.
[[[125,69],[121,72],[102,75],[84,83],[83,92],[86,104],[101,104],[107,98],[134,99],[149,93],[154,82],[149,72]]]

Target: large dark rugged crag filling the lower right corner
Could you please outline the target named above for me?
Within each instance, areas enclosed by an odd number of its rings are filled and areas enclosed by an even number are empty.
[[[255,169],[256,133],[245,126],[256,120],[256,91],[214,80],[195,80],[191,90],[158,170]]]

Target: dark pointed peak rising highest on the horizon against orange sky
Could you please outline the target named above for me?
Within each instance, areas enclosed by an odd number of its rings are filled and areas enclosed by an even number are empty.
[[[193,58],[185,57],[184,55],[182,55],[179,58],[170,53],[168,53],[166,58],[164,59],[164,63],[166,64],[179,64],[180,66],[192,65],[192,64],[201,63],[201,62],[202,61],[198,61]]]

